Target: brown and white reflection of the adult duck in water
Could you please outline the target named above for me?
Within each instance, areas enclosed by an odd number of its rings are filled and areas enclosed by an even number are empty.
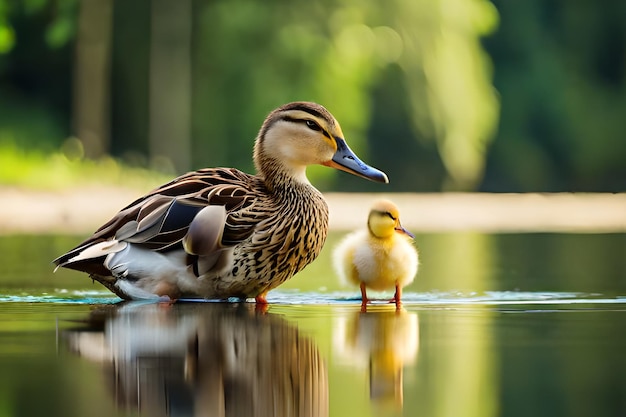
[[[128,304],[90,324],[68,333],[70,349],[101,362],[116,402],[142,415],[328,415],[315,344],[253,305]]]

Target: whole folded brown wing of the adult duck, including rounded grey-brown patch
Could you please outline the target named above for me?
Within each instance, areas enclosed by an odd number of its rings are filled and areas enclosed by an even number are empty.
[[[120,250],[110,243],[132,243],[154,251],[184,244],[196,255],[206,254],[211,247],[235,245],[248,238],[261,220],[254,207],[263,187],[259,178],[236,169],[187,173],[124,207],[90,238],[53,262],[71,268],[73,262]],[[97,251],[88,252],[90,247]]]

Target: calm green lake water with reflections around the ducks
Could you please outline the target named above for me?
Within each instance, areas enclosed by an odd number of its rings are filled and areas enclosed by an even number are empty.
[[[624,416],[624,234],[426,234],[403,309],[320,258],[251,303],[121,303],[0,237],[0,416]]]

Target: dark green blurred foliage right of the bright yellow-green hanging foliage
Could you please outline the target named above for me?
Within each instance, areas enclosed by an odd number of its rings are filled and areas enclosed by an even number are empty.
[[[500,92],[482,188],[626,190],[626,3],[494,1]]]

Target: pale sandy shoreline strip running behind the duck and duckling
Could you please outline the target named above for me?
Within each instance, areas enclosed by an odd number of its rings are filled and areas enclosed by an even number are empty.
[[[90,186],[58,191],[0,187],[0,235],[91,234],[141,191]],[[330,229],[364,227],[377,198],[394,201],[414,232],[626,232],[626,193],[325,193]]]

